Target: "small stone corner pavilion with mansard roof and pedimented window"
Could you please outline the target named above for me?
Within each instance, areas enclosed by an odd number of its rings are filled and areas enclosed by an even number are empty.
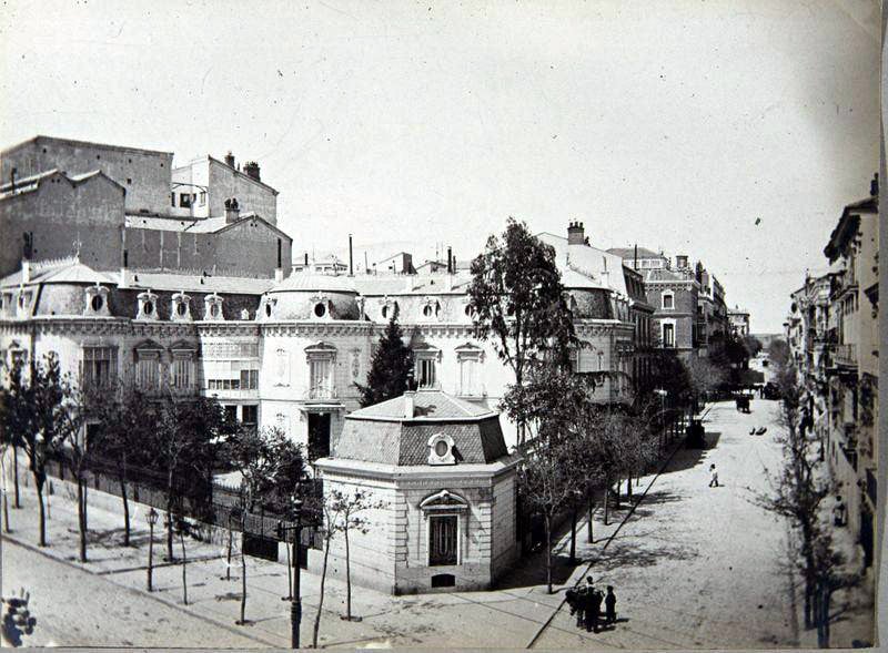
[[[350,533],[352,581],[394,594],[484,590],[517,555],[516,466],[500,416],[436,390],[355,410],[330,457],[316,461],[324,492],[372,492],[381,509]],[[312,551],[310,567],[323,554]],[[345,542],[329,573],[345,574]]]

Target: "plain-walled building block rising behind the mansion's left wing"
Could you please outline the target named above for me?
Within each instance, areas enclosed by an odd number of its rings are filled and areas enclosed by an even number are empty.
[[[0,152],[0,276],[19,266],[24,238],[33,262],[77,252],[104,272],[290,274],[292,238],[259,167],[208,156],[173,171],[172,156],[48,136]]]

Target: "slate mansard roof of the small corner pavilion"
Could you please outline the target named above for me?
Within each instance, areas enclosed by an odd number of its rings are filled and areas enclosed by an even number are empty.
[[[453,439],[456,468],[488,465],[508,456],[500,416],[485,407],[438,391],[418,391],[413,419],[397,397],[345,417],[331,458],[398,467],[428,465],[428,439]]]

